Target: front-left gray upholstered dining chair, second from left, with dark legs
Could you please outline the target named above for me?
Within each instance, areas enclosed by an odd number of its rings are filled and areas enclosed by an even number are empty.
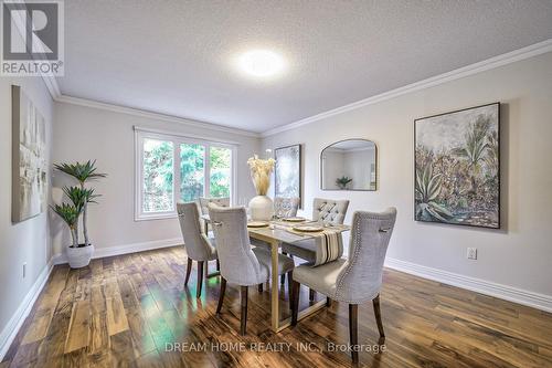
[[[247,287],[262,285],[268,280],[272,264],[270,253],[266,250],[259,248],[253,249],[251,246],[245,208],[221,208],[210,204],[209,217],[213,224],[221,264],[221,292],[219,294],[216,314],[221,313],[226,283],[240,285],[242,304],[240,332],[242,335],[245,335],[247,325]],[[294,262],[291,259],[278,254],[278,270],[273,271],[278,274],[288,273],[289,278],[291,278]],[[290,303],[293,304],[291,301]]]

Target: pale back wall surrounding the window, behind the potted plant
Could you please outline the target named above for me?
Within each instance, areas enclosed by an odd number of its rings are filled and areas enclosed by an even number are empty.
[[[238,143],[237,198],[255,192],[246,166],[247,158],[259,153],[259,139],[231,133],[191,127],[107,109],[55,104],[53,161],[97,159],[98,171],[108,177],[94,183],[103,197],[89,207],[88,232],[96,249],[181,238],[178,220],[135,221],[135,132],[134,126],[212,137]],[[66,183],[54,172],[54,186]],[[53,231],[55,254],[67,243],[67,231]]]

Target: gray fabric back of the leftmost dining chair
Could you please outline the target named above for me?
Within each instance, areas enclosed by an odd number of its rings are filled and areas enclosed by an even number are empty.
[[[209,261],[213,254],[213,246],[201,231],[198,203],[177,203],[177,212],[188,256],[194,261]]]

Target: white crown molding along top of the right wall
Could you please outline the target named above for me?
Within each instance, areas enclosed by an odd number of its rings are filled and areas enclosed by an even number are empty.
[[[477,73],[481,73],[485,71],[489,71],[492,69],[497,69],[503,65],[508,65],[521,60],[530,59],[537,55],[541,55],[548,52],[552,52],[552,39],[548,39],[545,41],[529,45],[527,48],[518,49],[511,52],[508,52],[506,54],[501,54],[495,57],[490,57],[480,62],[477,62],[475,64],[470,64],[447,73],[443,73],[436,76],[432,76],[426,80],[422,80],[395,90],[391,90],[389,92],[384,92],[382,94],[368,97],[358,102],[354,102],[352,104],[348,104],[341,107],[337,107],[317,115],[312,115],[310,117],[289,123],[283,126],[278,126],[276,128],[263,132],[261,134],[262,138],[266,138],[269,136],[273,136],[275,134],[279,134],[286,130],[291,130],[296,129],[298,127],[301,127],[304,125],[308,125],[325,118],[328,118],[330,116],[339,115],[346,112],[350,112],[357,108],[361,108],[368,105],[376,104],[382,101],[391,99],[411,92],[416,92],[425,88],[429,88],[439,84],[444,84],[450,81],[455,81],[458,78],[463,78],[469,75],[474,75]]]

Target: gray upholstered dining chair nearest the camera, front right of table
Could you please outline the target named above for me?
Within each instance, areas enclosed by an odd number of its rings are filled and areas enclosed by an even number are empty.
[[[396,209],[381,213],[357,211],[352,220],[349,257],[311,267],[294,270],[291,325],[297,325],[299,286],[307,285],[327,297],[349,304],[349,337],[352,360],[358,362],[358,306],[372,301],[380,341],[385,338],[380,313],[383,261],[395,225]]]

